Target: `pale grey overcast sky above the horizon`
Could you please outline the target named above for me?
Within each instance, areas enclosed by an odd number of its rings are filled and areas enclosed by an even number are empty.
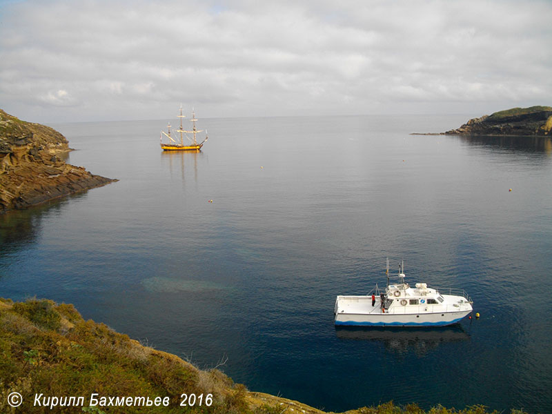
[[[552,1],[0,0],[30,121],[480,114],[552,105]]]

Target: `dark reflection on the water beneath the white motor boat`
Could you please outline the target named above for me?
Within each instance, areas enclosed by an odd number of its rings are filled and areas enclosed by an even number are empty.
[[[462,324],[425,328],[335,326],[335,333],[339,339],[383,342],[388,351],[418,355],[424,355],[441,344],[470,339]]]

